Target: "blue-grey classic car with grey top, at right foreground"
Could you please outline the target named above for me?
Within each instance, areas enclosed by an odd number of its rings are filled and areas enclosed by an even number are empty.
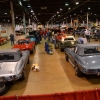
[[[100,44],[77,44],[74,48],[66,48],[65,57],[78,77],[83,73],[100,75]]]

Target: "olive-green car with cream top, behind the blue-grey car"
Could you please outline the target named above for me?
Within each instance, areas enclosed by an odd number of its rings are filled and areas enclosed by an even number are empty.
[[[64,51],[66,47],[73,47],[77,44],[78,42],[75,40],[73,36],[66,36],[62,37],[61,41],[58,42],[57,46],[60,48],[60,51]]]

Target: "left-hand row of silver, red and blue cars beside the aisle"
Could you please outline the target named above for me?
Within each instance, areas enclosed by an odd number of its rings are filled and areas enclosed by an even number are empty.
[[[28,35],[11,49],[0,50],[0,95],[8,90],[9,82],[25,79],[25,67],[30,63],[30,54],[35,52],[35,40],[34,35]]]

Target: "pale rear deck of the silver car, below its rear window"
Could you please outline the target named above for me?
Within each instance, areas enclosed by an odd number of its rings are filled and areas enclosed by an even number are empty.
[[[16,74],[17,62],[2,62],[0,63],[0,77]]]

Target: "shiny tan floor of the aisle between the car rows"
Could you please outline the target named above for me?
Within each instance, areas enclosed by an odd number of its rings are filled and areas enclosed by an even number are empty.
[[[44,50],[44,44],[43,40],[36,46],[35,53],[30,55],[30,64],[26,67],[26,79],[15,82],[4,96],[51,94],[100,88],[100,76],[84,75],[81,78],[75,76],[74,68],[66,62],[64,52],[53,49],[54,54],[48,55]],[[3,48],[11,48],[10,42],[0,46],[0,49]],[[32,64],[35,63],[40,66],[39,72],[31,70]]]

